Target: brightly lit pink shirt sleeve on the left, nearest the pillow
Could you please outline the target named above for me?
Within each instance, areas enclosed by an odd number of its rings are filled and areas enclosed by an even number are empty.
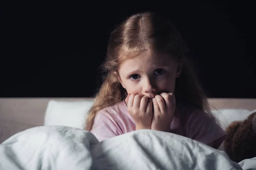
[[[102,111],[97,113],[91,133],[101,142],[105,139],[121,135],[122,130],[112,116]]]

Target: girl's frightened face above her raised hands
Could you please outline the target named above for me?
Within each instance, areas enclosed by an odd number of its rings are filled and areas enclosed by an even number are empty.
[[[162,92],[174,92],[181,68],[181,64],[168,55],[145,52],[142,57],[127,59],[120,65],[119,80],[128,94],[154,98]]]

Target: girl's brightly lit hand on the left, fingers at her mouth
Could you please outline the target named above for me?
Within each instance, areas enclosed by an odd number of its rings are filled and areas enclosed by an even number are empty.
[[[142,94],[128,94],[125,102],[128,107],[128,112],[134,119],[136,130],[151,129],[153,104],[152,99]]]

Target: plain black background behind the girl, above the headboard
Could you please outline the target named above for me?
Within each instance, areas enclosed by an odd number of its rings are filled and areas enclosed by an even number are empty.
[[[0,7],[1,97],[93,96],[115,24],[151,10],[177,26],[209,97],[256,98],[249,1],[7,2]]]

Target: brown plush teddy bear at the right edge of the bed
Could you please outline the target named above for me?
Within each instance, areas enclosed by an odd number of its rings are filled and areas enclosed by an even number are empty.
[[[232,161],[256,157],[256,111],[244,121],[235,121],[226,128],[224,150]]]

